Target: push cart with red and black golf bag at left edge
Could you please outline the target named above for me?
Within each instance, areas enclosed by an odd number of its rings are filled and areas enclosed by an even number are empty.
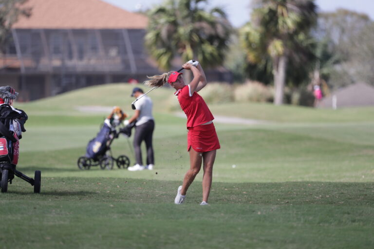
[[[35,171],[35,177],[29,178],[16,170],[19,157],[19,139],[25,132],[24,124],[27,114],[12,107],[13,100],[18,96],[13,88],[0,87],[0,187],[1,192],[8,191],[8,183],[12,184],[17,176],[34,186],[34,193],[40,193],[41,173]]]

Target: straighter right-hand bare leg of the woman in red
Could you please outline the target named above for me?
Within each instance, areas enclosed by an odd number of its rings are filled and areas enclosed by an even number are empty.
[[[213,164],[216,159],[216,150],[203,153],[203,201],[208,202],[210,187],[212,186]]]

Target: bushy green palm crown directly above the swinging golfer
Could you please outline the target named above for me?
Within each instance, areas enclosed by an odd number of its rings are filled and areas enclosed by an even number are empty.
[[[222,64],[231,25],[222,9],[204,6],[207,0],[167,0],[150,10],[145,44],[160,68],[169,69],[176,56]]]

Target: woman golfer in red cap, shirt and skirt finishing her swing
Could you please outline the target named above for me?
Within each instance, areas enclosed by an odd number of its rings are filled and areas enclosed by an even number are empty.
[[[183,185],[179,186],[175,204],[182,204],[186,198],[189,185],[195,179],[203,162],[203,200],[200,205],[208,204],[210,187],[212,184],[213,163],[216,158],[216,150],[220,148],[217,133],[213,125],[213,115],[204,99],[197,93],[206,86],[206,76],[198,62],[189,61],[182,66],[193,73],[192,81],[186,85],[182,73],[171,71],[163,75],[150,77],[146,82],[148,86],[160,86],[166,81],[177,91],[179,104],[187,115],[187,151],[189,152],[190,169],[183,179]],[[162,78],[162,80],[160,80]]]

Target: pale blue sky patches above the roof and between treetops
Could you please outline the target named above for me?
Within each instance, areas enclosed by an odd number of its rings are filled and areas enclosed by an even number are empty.
[[[104,0],[128,11],[147,9],[163,0]],[[223,7],[234,27],[240,27],[249,20],[250,0],[208,0],[211,6]],[[374,20],[374,0],[316,0],[320,11],[335,11],[345,8],[367,14]]]

